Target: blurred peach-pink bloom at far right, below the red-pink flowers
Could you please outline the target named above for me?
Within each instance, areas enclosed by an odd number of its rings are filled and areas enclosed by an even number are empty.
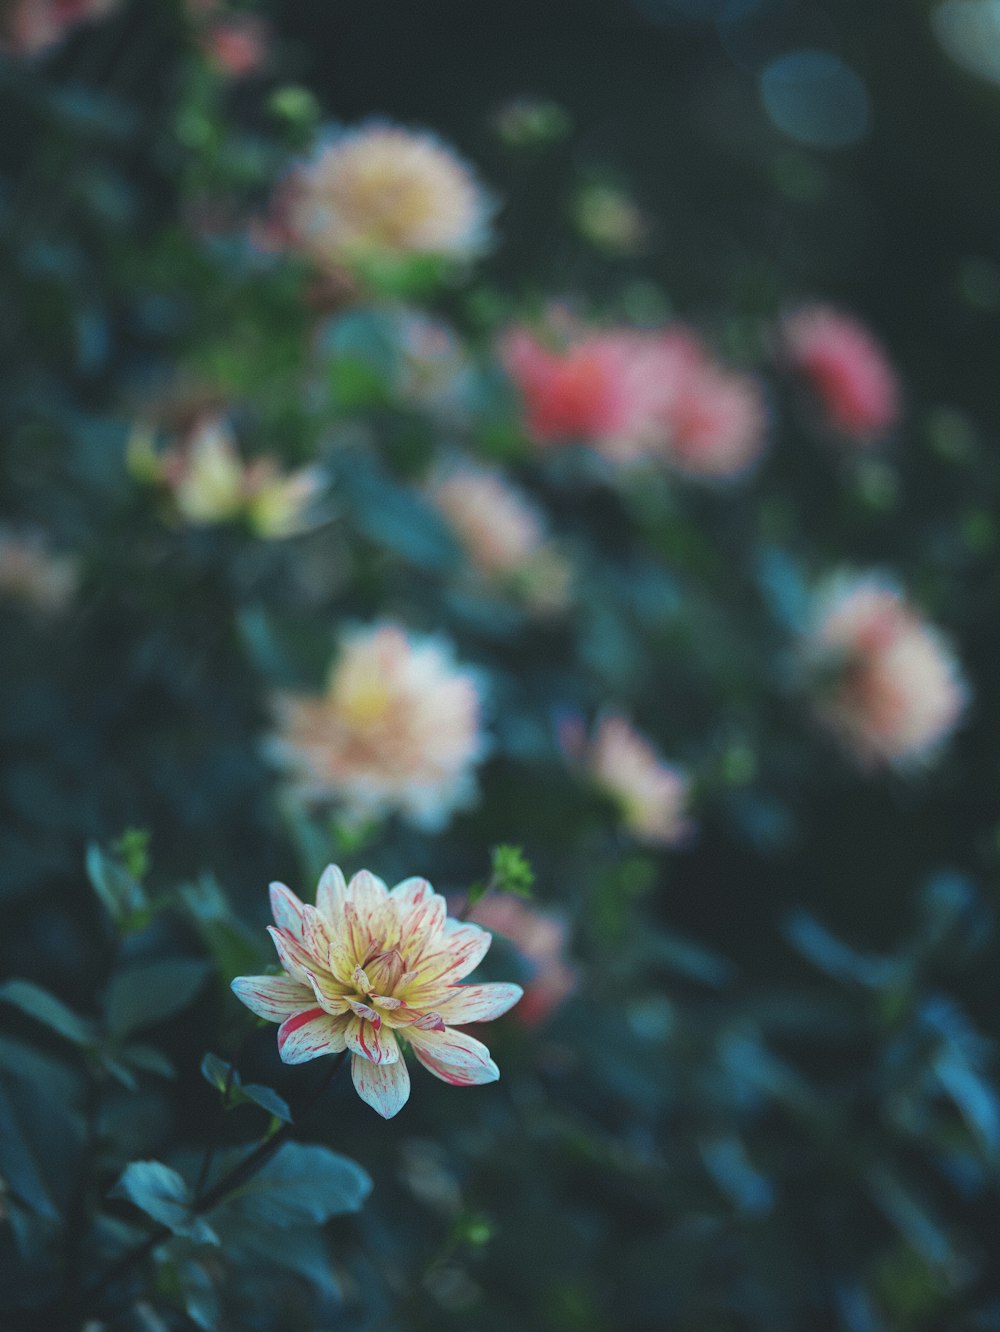
[[[803,651],[820,721],[864,767],[928,758],[968,702],[944,637],[876,575],[820,591]]]

